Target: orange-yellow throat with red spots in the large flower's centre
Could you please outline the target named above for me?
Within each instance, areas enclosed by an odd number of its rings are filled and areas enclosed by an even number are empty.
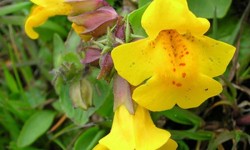
[[[175,30],[164,30],[159,33],[153,45],[164,56],[164,67],[159,74],[175,87],[182,87],[195,72],[194,54],[188,47],[195,38],[190,34],[181,35]],[[165,69],[162,69],[165,68]]]

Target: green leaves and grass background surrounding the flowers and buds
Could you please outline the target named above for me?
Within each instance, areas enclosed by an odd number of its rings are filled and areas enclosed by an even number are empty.
[[[134,33],[150,0],[108,0],[128,14]],[[169,130],[180,150],[250,149],[250,1],[187,0],[190,9],[208,18],[208,36],[237,48],[226,73],[217,79],[223,92],[200,107],[152,113],[158,127]],[[84,68],[76,53],[81,45],[65,16],[50,18],[29,39],[24,22],[32,3],[0,1],[0,150],[90,150],[111,127],[112,84],[96,80],[90,68],[94,107],[74,108],[69,85]],[[178,18],[177,18],[178,19]],[[73,68],[73,69],[72,69]]]

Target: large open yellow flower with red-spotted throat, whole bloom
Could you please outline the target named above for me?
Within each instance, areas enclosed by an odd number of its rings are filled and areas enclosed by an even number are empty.
[[[142,17],[148,37],[112,51],[118,74],[138,86],[133,99],[152,111],[199,106],[222,91],[221,75],[235,48],[203,34],[209,22],[186,0],[154,0]]]

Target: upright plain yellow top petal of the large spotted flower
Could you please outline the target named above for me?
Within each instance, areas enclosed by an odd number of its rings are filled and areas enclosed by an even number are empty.
[[[203,35],[210,24],[189,11],[186,0],[154,0],[142,16],[142,26],[149,37],[155,38],[160,31],[169,29]]]

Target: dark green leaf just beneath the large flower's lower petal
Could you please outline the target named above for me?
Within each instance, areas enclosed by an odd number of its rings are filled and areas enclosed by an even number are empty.
[[[196,127],[199,127],[204,122],[203,119],[200,118],[198,115],[192,113],[189,110],[181,109],[177,106],[161,113],[172,121],[180,124],[195,125]]]

